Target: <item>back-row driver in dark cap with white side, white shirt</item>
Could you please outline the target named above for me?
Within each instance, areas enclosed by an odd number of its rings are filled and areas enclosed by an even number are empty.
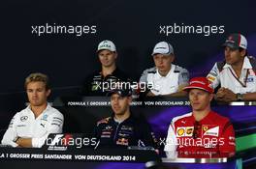
[[[247,40],[241,34],[232,34],[223,46],[225,60],[215,63],[208,73],[212,87],[221,87],[215,99],[256,100],[256,59],[247,55]]]

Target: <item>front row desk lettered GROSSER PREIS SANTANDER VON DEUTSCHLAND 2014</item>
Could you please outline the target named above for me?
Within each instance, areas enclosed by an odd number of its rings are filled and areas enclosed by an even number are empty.
[[[46,149],[0,148],[1,168],[97,168],[97,169],[237,169],[236,158],[160,157],[154,151],[116,149]],[[238,167],[240,166],[240,167]]]

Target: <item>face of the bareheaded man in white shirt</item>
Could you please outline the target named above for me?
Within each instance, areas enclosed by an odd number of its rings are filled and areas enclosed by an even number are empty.
[[[47,103],[50,90],[46,90],[46,84],[41,81],[27,84],[27,98],[32,106],[41,106]]]

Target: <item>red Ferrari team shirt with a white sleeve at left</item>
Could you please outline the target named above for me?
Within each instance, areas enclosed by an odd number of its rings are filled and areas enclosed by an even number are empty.
[[[210,111],[197,122],[192,113],[173,119],[165,151],[178,157],[223,157],[235,155],[235,133],[229,119]]]

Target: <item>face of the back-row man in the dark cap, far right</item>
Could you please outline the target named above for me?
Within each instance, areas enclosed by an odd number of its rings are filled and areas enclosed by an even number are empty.
[[[236,65],[240,62],[243,62],[243,57],[245,55],[245,50],[240,51],[240,49],[233,49],[226,46],[225,50],[225,60],[229,65]]]

